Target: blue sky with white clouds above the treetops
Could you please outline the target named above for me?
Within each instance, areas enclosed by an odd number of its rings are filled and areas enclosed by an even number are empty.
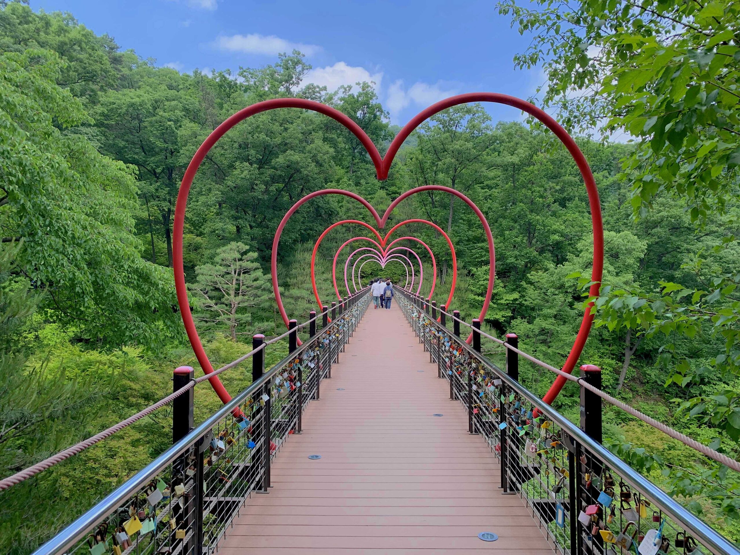
[[[391,121],[459,92],[527,98],[544,78],[514,70],[531,40],[499,16],[495,1],[31,0],[34,10],[69,11],[122,48],[181,71],[272,64],[297,47],[309,81],[334,90],[377,82]],[[488,107],[494,119],[522,119]]]

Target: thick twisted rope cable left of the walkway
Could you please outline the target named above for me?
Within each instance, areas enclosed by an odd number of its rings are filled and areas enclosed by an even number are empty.
[[[308,320],[306,323],[303,323],[297,327],[306,326],[306,324],[310,323],[312,320],[315,320],[315,318],[312,318],[311,320]],[[136,414],[128,417],[126,420],[121,420],[121,422],[112,425],[110,428],[107,428],[104,431],[101,431],[100,433],[95,434],[92,437],[88,437],[87,440],[83,440],[79,443],[76,443],[75,445],[72,445],[71,447],[68,447],[62,451],[59,451],[57,454],[54,454],[51,457],[48,457],[47,459],[42,460],[41,462],[37,462],[35,465],[29,466],[28,468],[24,468],[23,470],[16,472],[16,474],[13,474],[12,476],[9,476],[7,478],[4,478],[3,480],[0,480],[0,491],[6,490],[7,488],[10,488],[13,485],[19,484],[20,482],[23,482],[24,480],[28,480],[30,477],[36,476],[36,474],[39,474],[45,470],[48,470],[52,466],[57,465],[59,462],[63,460],[67,460],[70,457],[73,457],[74,455],[81,453],[85,449],[92,447],[92,445],[95,445],[95,443],[100,443],[102,440],[107,439],[108,437],[112,436],[118,431],[121,431],[122,429],[127,428],[129,425],[132,425],[138,420],[141,420],[142,418],[149,416],[149,414],[152,414],[152,412],[158,411],[163,406],[169,405],[169,403],[172,403],[173,400],[177,399],[178,397],[185,394],[190,389],[197,386],[198,383],[202,383],[206,380],[210,380],[212,377],[215,377],[215,376],[218,376],[218,374],[221,374],[221,372],[232,369],[234,368],[234,366],[237,366],[238,364],[243,363],[244,360],[248,359],[249,357],[252,357],[252,355],[255,354],[256,352],[261,351],[262,349],[265,349],[266,346],[272,345],[272,343],[275,343],[279,341],[280,339],[283,339],[283,337],[286,337],[291,332],[293,332],[292,329],[288,330],[287,332],[281,335],[278,335],[277,337],[273,337],[269,341],[265,341],[257,349],[252,349],[252,351],[249,351],[248,353],[242,355],[236,360],[232,360],[232,362],[226,364],[226,366],[221,366],[220,369],[212,371],[210,374],[205,374],[201,377],[196,378],[195,380],[192,380],[191,382],[187,383],[186,386],[183,386],[182,388],[178,389],[178,391],[175,391],[172,394],[169,394],[166,397],[158,400],[153,405],[149,405],[147,408],[144,408],[141,411],[138,411]]]

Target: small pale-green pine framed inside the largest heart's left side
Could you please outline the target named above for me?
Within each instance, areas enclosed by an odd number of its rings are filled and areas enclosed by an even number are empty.
[[[248,252],[243,243],[229,243],[218,249],[213,264],[195,268],[195,283],[189,286],[198,306],[196,320],[206,329],[227,329],[232,340],[238,334],[264,331],[266,324],[255,323],[248,309],[262,306],[269,298],[269,276],[256,262],[257,253]],[[247,324],[249,331],[241,332]]]

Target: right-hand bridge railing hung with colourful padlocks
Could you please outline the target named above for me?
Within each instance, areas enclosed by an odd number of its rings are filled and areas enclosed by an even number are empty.
[[[519,354],[506,349],[505,369],[482,356],[480,322],[472,323],[468,345],[457,312],[446,314],[422,297],[396,292],[430,362],[448,380],[450,399],[468,412],[468,432],[480,434],[499,459],[499,487],[522,499],[556,553],[740,554],[602,446],[601,397],[582,386],[580,423],[571,423],[519,383]],[[507,336],[506,343],[517,348],[517,337]],[[596,366],[581,372],[585,382],[601,388]]]

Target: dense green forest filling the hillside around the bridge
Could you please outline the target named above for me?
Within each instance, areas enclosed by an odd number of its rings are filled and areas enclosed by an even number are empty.
[[[640,5],[503,0],[498,9],[531,36],[514,64],[544,68],[538,105],[577,134],[599,188],[605,277],[579,363],[602,368],[605,391],[737,458],[740,6]],[[348,115],[381,154],[399,131],[373,84],[330,91],[308,83],[311,65],[297,50],[263,67],[181,73],[121,50],[104,31],[70,13],[0,2],[0,477],[168,394],[175,367],[200,375],[175,299],[172,219],[184,170],[218,124],[255,102],[297,97]],[[615,132],[630,140],[613,141]],[[551,132],[515,110],[494,122],[479,104],[421,125],[386,181],[354,135],[314,112],[273,110],[227,133],[198,171],[185,222],[192,310],[212,362],[249,351],[255,332],[282,332],[269,257],[295,201],[334,187],[382,213],[427,184],[463,192],[491,225],[497,264],[486,331],[517,333],[525,351],[561,365],[590,300],[585,187]],[[316,308],[314,240],[342,218],[368,221],[359,204],[320,197],[284,230],[278,275],[292,317]],[[406,218],[433,221],[451,237],[460,274],[451,308],[477,317],[488,279],[477,217],[451,195],[426,192],[403,201],[386,229]],[[355,235],[366,230],[343,226],[323,241],[323,299],[335,297],[334,252]],[[425,226],[413,235],[434,250],[442,304],[447,243]],[[393,266],[380,276],[366,265],[363,283],[403,281]],[[238,275],[243,288],[219,291],[225,275]],[[502,361],[492,343],[485,349]],[[223,380],[238,391],[249,370]],[[522,383],[542,395],[552,376],[525,366]],[[220,404],[210,388],[195,396],[196,420]],[[554,406],[577,421],[578,388],[568,384]],[[30,552],[164,451],[168,410],[0,493],[0,551]],[[739,475],[609,407],[605,441],[740,540]]]

